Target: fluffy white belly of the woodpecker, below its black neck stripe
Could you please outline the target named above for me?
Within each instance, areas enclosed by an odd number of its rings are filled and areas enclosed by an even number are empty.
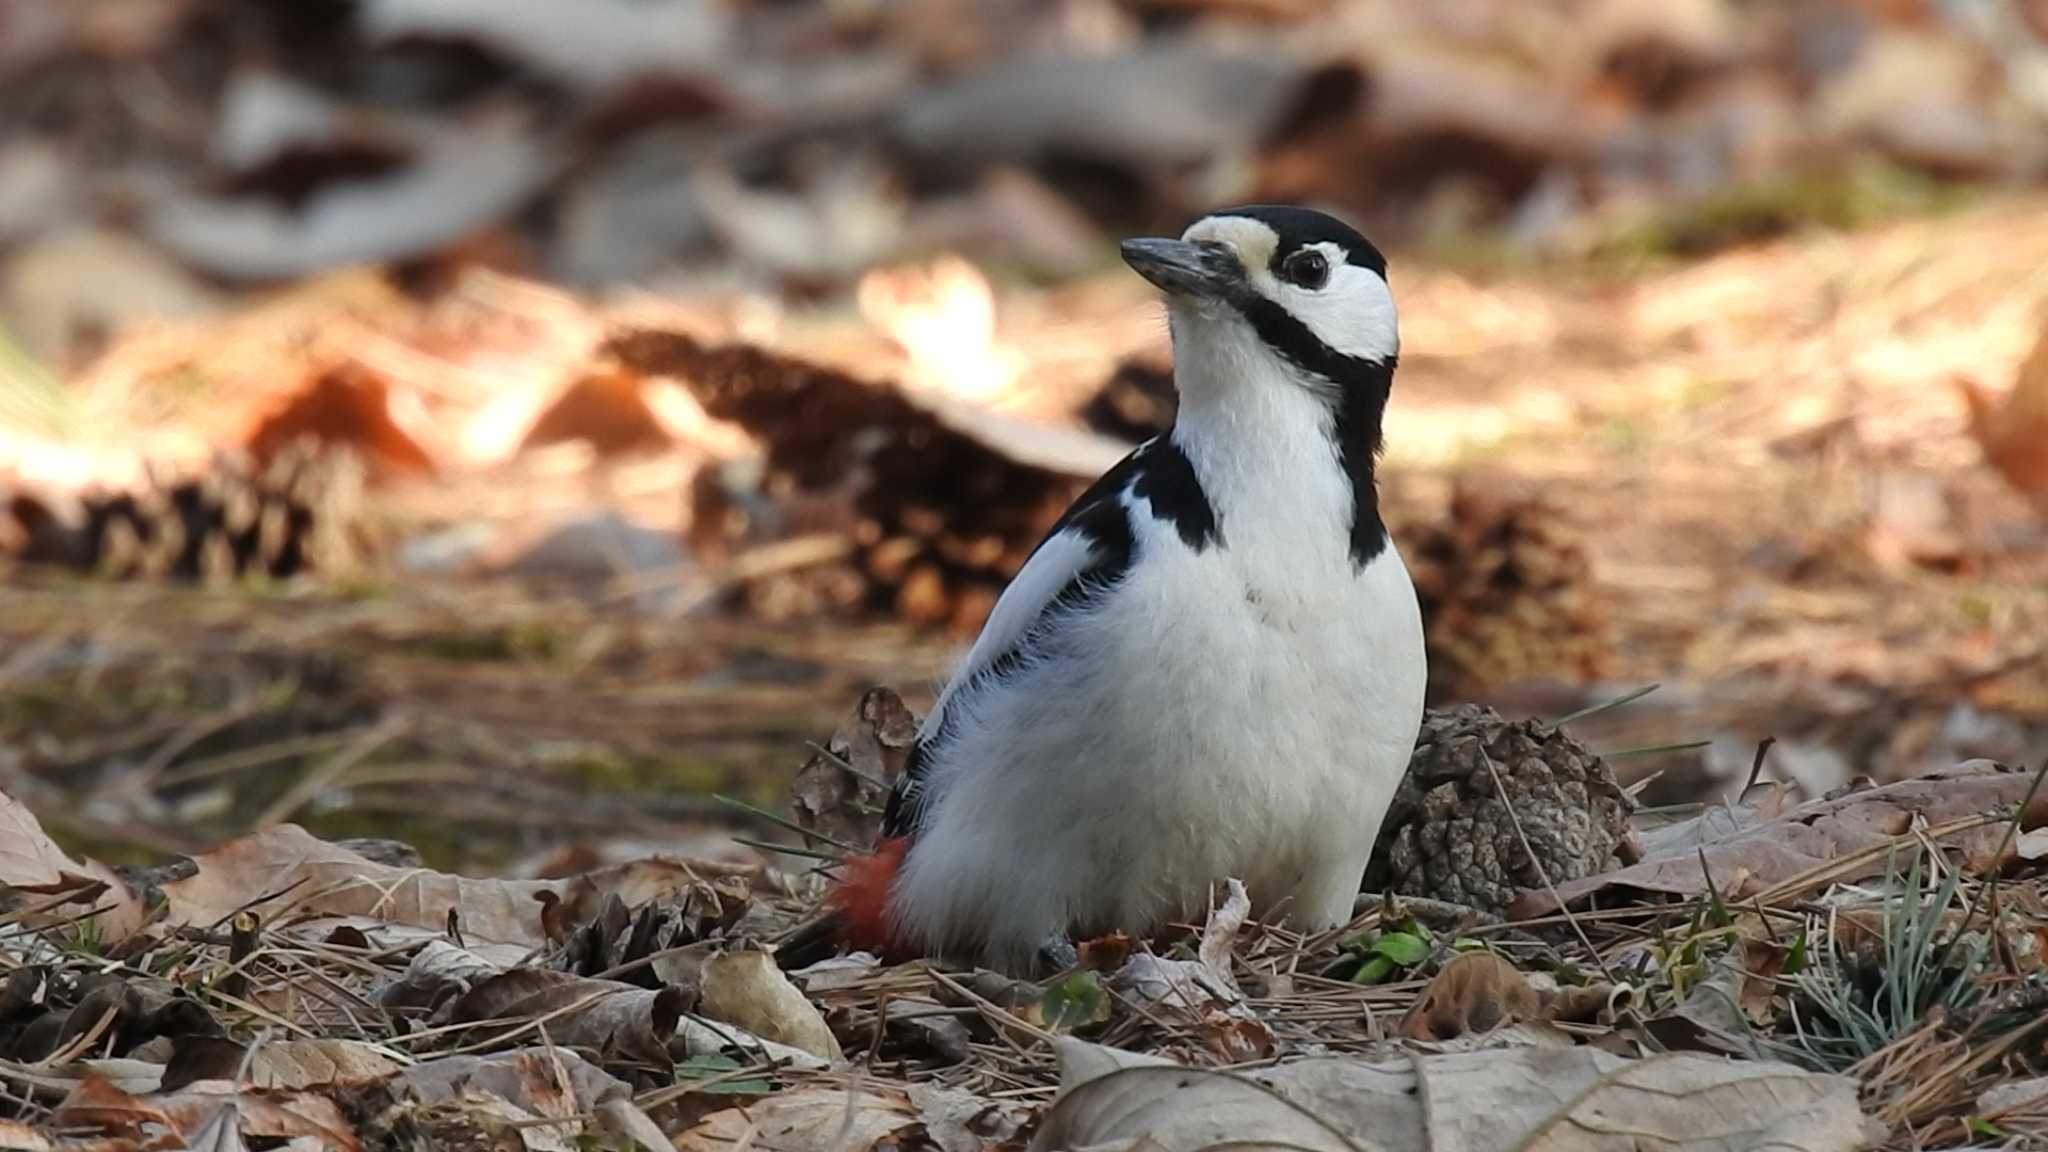
[[[1151,560],[1061,658],[948,707],[893,904],[918,945],[1016,968],[1059,931],[1200,918],[1227,877],[1300,927],[1350,916],[1421,722],[1399,553]]]

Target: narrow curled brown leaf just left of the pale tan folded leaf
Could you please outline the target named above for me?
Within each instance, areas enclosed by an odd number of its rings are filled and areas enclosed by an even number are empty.
[[[487,1031],[539,1025],[549,1041],[606,1056],[666,1062],[668,1037],[688,1009],[682,988],[635,988],[543,968],[514,968],[479,982],[446,1009],[449,1023],[514,1021]],[[535,1035],[530,1029],[520,1035]]]

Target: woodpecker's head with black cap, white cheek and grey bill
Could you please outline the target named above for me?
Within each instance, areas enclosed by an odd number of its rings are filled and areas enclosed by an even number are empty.
[[[1384,381],[1401,353],[1386,258],[1321,211],[1217,211],[1180,240],[1126,240],[1122,254],[1165,291],[1176,342],[1272,357],[1317,392]]]

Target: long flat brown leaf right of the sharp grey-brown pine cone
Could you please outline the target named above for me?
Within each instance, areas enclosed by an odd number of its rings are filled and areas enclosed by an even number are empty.
[[[1688,836],[1665,830],[1649,845],[1645,857],[1624,869],[1589,875],[1556,886],[1530,890],[1511,908],[1509,918],[1534,918],[1556,912],[1559,902],[1577,904],[1589,896],[1706,896],[1712,888],[1729,902],[1755,896],[1772,886],[1798,877],[1839,857],[1884,845],[1917,824],[1946,824],[2019,804],[2032,777],[1991,760],[1970,760],[1946,773],[1851,791],[1831,799],[1802,804],[1776,820],[1735,828],[1724,836]],[[1702,820],[1710,818],[1708,816]],[[2048,822],[2048,797],[2036,797],[2021,826]],[[1946,836],[1962,851],[1964,865],[1980,869],[2005,838],[1997,822]],[[2011,849],[2007,849],[2011,851]],[[1862,879],[1884,871],[1884,857],[1874,855],[1849,867],[1837,879]]]

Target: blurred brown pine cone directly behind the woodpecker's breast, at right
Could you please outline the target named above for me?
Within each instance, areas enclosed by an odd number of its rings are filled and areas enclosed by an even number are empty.
[[[1593,564],[1552,506],[1460,482],[1448,515],[1397,535],[1421,601],[1432,699],[1606,672]]]

